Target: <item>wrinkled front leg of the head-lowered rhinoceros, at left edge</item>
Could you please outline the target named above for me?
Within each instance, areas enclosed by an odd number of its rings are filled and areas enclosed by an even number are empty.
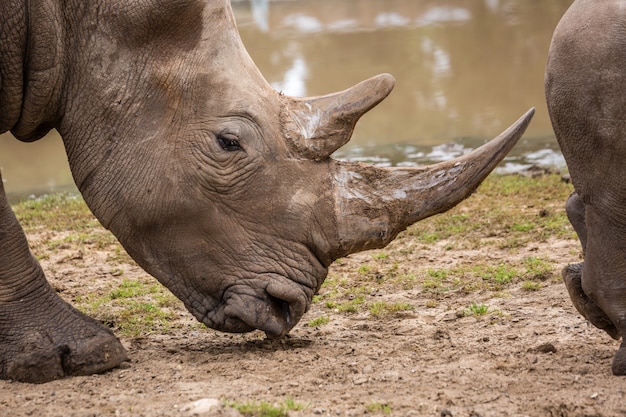
[[[41,383],[103,372],[124,360],[113,333],[47,282],[0,178],[0,378]]]

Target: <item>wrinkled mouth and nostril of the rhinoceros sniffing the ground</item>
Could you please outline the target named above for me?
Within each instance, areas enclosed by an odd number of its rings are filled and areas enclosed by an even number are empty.
[[[268,338],[286,335],[307,310],[309,297],[303,288],[278,274],[259,275],[224,293],[224,330],[262,330]]]

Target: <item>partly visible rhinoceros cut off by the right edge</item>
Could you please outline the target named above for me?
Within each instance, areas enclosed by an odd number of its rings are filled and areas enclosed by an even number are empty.
[[[622,344],[626,375],[626,1],[578,0],[554,32],[546,97],[575,192],[566,209],[584,262],[563,278],[578,311]]]

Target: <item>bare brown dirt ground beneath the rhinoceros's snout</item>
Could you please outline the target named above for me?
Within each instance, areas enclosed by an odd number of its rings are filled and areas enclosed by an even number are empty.
[[[551,240],[519,256],[565,264],[576,251],[574,240]],[[71,298],[102,285],[97,256],[60,251],[42,264]],[[401,262],[436,268],[485,258],[495,263],[502,256],[437,244]],[[368,257],[352,255],[334,268],[354,269]],[[70,262],[75,258],[86,265],[79,272]],[[125,271],[145,275],[133,265]],[[74,286],[78,273],[90,284]],[[0,381],[0,415],[239,416],[222,405],[225,399],[281,404],[286,398],[305,405],[290,416],[626,415],[626,378],[611,374],[618,342],[577,314],[558,278],[538,291],[518,285],[503,297],[481,296],[453,291],[432,305],[419,289],[373,291],[370,297],[414,306],[381,319],[335,313],[318,302],[281,341],[192,326],[122,338],[130,361],[121,369],[43,385]],[[459,313],[482,301],[500,313]],[[329,323],[306,325],[323,315],[330,315]],[[185,313],[181,320],[193,321]]]

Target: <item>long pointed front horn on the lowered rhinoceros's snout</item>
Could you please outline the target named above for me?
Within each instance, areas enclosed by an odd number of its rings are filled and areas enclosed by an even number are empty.
[[[337,162],[336,257],[387,245],[411,224],[469,197],[522,136],[535,109],[489,143],[424,168]]]

